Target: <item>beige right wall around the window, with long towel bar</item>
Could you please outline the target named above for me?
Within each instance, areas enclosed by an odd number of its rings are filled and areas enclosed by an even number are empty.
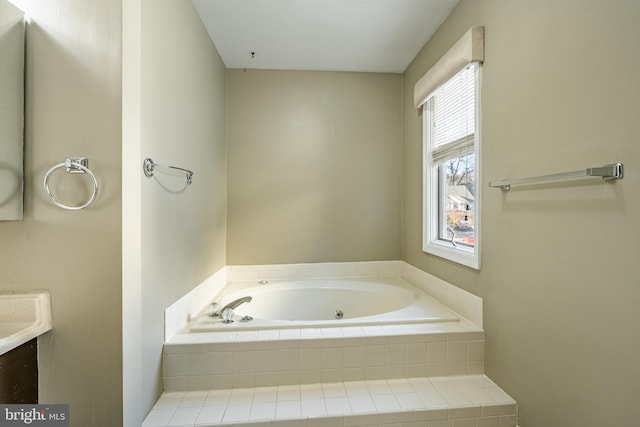
[[[636,425],[640,3],[463,0],[404,74],[403,259],[484,298],[486,371],[521,427]],[[417,79],[472,25],[486,29],[483,247],[477,272],[422,253]],[[621,161],[503,194],[487,182]]]

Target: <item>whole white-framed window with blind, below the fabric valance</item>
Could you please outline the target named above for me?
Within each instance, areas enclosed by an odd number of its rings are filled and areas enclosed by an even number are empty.
[[[470,63],[423,105],[423,250],[480,268],[480,72]]]

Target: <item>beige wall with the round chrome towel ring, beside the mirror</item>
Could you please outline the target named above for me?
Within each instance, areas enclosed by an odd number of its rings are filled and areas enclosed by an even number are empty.
[[[31,19],[25,210],[23,221],[0,223],[0,288],[51,293],[53,331],[39,347],[40,402],[70,404],[72,426],[118,425],[121,3],[14,3]],[[55,207],[42,189],[45,172],[71,156],[88,157],[100,185],[96,202],[78,212]],[[52,190],[74,204],[86,196],[86,177],[65,175],[52,178]]]

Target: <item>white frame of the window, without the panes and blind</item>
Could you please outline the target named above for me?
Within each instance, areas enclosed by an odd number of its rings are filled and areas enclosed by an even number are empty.
[[[448,240],[441,239],[439,235],[440,222],[445,221],[440,215],[440,212],[444,210],[446,212],[446,200],[444,205],[440,203],[440,194],[442,189],[439,186],[443,180],[439,179],[440,168],[438,165],[443,164],[440,162],[434,164],[432,151],[433,151],[433,128],[431,126],[432,121],[432,97],[433,93],[427,97],[427,101],[422,106],[422,126],[423,126],[423,238],[422,238],[422,250],[426,253],[445,258],[447,260],[456,262],[458,264],[465,265],[467,267],[480,270],[480,248],[481,248],[481,230],[482,230],[482,218],[481,218],[481,200],[482,200],[482,64],[479,62],[473,62],[466,67],[475,66],[474,72],[474,89],[475,89],[475,130],[474,130],[474,246],[470,248],[468,246],[454,246]],[[456,73],[457,75],[458,73]],[[454,76],[455,77],[455,76]],[[453,77],[452,77],[453,78]],[[435,93],[435,91],[434,91]],[[443,209],[444,208],[444,209]],[[446,226],[446,225],[445,225]]]

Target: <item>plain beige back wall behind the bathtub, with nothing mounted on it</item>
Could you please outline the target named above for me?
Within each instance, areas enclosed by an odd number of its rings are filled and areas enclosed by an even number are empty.
[[[227,73],[228,263],[397,259],[401,75]]]

